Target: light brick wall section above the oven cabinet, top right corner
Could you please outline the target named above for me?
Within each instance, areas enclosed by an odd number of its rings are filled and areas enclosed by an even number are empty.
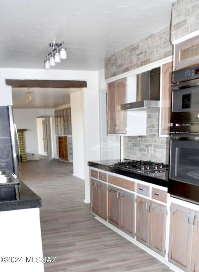
[[[172,8],[172,41],[199,30],[199,0],[177,0]]]

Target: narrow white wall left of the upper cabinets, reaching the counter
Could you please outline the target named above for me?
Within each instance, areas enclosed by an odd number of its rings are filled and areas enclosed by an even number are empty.
[[[107,99],[104,69],[99,71],[100,159],[120,159],[120,136],[107,135]]]

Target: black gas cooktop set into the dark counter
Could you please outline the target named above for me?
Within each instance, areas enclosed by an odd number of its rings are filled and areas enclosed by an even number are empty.
[[[114,163],[114,167],[132,172],[147,174],[163,173],[165,170],[169,169],[169,166],[165,165],[164,163],[134,160],[126,160],[124,162]]]

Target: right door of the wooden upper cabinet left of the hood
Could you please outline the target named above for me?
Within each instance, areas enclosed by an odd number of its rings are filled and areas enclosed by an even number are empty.
[[[116,80],[115,82],[115,105],[121,105],[126,103],[126,86],[127,78]],[[127,118],[126,110],[116,111],[116,129],[117,134],[126,134]]]

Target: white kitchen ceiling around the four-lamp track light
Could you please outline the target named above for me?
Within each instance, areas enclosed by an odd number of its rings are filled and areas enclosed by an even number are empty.
[[[99,70],[104,58],[169,25],[173,0],[1,0],[0,67],[43,68],[49,42],[65,41],[55,69]]]

